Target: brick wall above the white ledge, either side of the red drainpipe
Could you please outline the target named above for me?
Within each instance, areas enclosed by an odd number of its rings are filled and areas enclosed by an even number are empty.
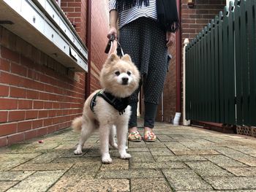
[[[86,42],[86,0],[61,0],[61,9]],[[108,33],[108,1],[91,1],[91,92],[100,88],[99,71],[108,55],[104,53]]]

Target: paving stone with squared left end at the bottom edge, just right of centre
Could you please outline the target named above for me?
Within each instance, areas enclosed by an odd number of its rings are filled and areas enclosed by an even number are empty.
[[[165,179],[132,179],[132,192],[161,191],[171,192],[172,189]]]

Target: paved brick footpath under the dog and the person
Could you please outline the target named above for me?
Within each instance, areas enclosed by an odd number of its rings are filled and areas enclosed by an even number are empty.
[[[141,131],[142,132],[142,131]],[[157,123],[157,142],[129,142],[130,160],[99,158],[98,134],[73,155],[70,128],[0,148],[0,191],[256,191],[256,139]]]

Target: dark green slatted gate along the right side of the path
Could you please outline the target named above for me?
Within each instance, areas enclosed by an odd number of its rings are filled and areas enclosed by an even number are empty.
[[[186,47],[186,118],[256,126],[256,0],[230,1]]]

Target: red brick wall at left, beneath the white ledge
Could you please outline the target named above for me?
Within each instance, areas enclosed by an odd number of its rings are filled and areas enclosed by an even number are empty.
[[[69,127],[82,112],[84,88],[83,73],[67,73],[0,26],[0,146]]]

